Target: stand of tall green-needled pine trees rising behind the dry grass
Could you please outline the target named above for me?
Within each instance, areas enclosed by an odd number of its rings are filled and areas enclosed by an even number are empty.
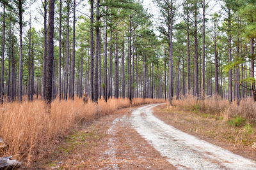
[[[155,26],[140,1],[54,1],[54,17],[46,0],[2,1],[1,101],[44,99],[48,90],[52,100],[86,92],[95,102],[186,94],[255,99],[255,2],[216,1],[220,11],[211,15],[209,2],[155,1]]]

